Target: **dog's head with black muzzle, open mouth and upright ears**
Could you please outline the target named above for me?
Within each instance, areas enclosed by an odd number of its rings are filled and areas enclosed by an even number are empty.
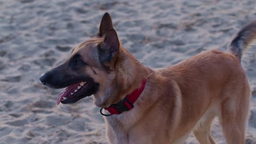
[[[109,97],[118,93],[120,45],[106,13],[96,37],[75,47],[65,62],[47,71],[40,81],[50,88],[66,88],[60,93],[58,104],[72,104],[94,94],[97,106],[107,106]]]

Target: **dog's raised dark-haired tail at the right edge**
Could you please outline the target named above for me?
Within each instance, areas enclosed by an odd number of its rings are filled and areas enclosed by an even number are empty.
[[[228,46],[227,52],[235,55],[241,61],[243,51],[256,40],[256,20],[243,27]]]

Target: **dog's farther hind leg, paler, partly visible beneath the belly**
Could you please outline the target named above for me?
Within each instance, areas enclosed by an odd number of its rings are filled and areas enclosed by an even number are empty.
[[[211,125],[215,115],[206,112],[205,115],[196,124],[193,134],[196,140],[201,144],[215,144],[211,136]]]

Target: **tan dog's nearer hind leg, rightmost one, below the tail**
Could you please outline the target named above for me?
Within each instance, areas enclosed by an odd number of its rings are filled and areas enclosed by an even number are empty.
[[[233,98],[228,98],[222,103],[220,123],[222,124],[224,137],[228,144],[245,144],[250,94],[246,92],[242,95],[243,97],[238,97],[238,95],[234,94]]]

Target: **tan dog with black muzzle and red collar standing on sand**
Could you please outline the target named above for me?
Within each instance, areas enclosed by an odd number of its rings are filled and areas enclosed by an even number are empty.
[[[237,33],[226,52],[203,51],[167,68],[150,69],[118,39],[108,13],[98,34],[75,47],[67,60],[40,77],[66,88],[57,104],[93,95],[102,107],[109,143],[214,143],[211,124],[226,143],[245,143],[251,91],[241,57],[256,38],[256,21]]]

